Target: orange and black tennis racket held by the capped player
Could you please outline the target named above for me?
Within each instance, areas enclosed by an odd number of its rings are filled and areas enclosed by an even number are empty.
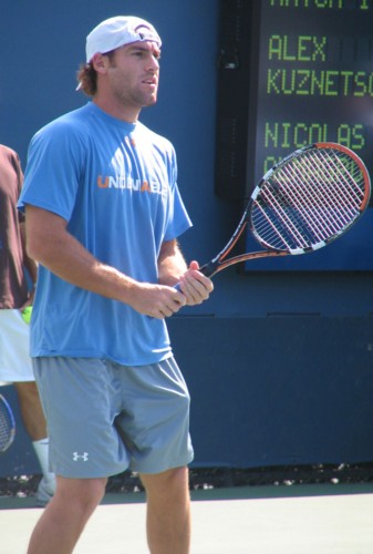
[[[360,219],[370,195],[366,167],[350,148],[327,142],[297,150],[266,173],[230,240],[200,271],[213,277],[240,261],[318,250]],[[246,228],[263,249],[228,257]]]

